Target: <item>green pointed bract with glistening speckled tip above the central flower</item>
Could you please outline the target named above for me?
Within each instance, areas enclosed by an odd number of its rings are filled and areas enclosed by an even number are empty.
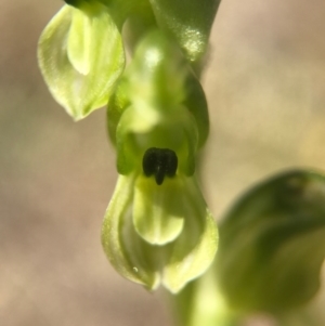
[[[150,1],[158,26],[174,36],[187,60],[200,60],[208,45],[220,0]]]

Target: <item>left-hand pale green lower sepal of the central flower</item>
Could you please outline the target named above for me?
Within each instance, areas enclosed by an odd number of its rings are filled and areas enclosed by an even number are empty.
[[[134,175],[120,175],[102,227],[102,244],[107,258],[123,277],[148,289],[159,285],[159,248],[152,247],[135,232],[132,222]]]

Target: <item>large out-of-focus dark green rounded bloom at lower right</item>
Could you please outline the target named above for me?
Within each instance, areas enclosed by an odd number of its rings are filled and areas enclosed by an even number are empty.
[[[257,185],[220,235],[217,273],[233,308],[280,313],[307,303],[325,258],[325,177],[298,170]]]

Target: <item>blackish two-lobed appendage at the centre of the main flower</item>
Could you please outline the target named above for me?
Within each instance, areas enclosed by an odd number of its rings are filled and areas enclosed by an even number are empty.
[[[166,175],[174,177],[178,156],[169,148],[151,147],[143,155],[142,168],[146,177],[155,175],[156,183],[161,185]]]

